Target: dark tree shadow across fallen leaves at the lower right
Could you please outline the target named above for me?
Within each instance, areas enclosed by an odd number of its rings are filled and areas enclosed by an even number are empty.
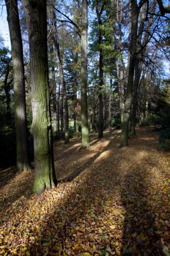
[[[124,178],[122,202],[126,213],[122,255],[163,255],[161,230],[155,226],[159,218],[147,195],[150,175],[146,169],[136,166],[136,171],[128,170]]]

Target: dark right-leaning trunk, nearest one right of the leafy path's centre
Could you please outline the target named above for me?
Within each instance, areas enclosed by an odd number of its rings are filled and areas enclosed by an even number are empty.
[[[124,114],[122,122],[122,141],[120,148],[128,146],[128,125],[132,109],[132,92],[134,83],[134,63],[136,57],[136,40],[138,28],[138,5],[136,0],[131,1],[131,25],[130,25],[130,47],[128,53],[128,84],[126,90],[126,99],[124,103]]]

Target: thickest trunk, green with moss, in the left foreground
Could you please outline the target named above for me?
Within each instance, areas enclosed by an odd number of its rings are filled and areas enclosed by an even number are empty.
[[[52,121],[48,84],[46,0],[23,0],[30,43],[32,134],[34,137],[34,192],[56,185],[52,146]]]

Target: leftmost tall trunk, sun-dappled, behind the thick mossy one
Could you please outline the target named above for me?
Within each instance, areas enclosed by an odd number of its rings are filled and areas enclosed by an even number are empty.
[[[28,157],[22,35],[19,24],[17,0],[5,0],[5,5],[7,7],[7,22],[9,25],[11,55],[13,59],[17,172],[22,172],[22,170],[29,170],[32,168]]]

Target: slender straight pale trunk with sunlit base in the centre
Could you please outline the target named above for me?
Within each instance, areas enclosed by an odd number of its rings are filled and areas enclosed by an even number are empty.
[[[81,17],[81,147],[89,148],[87,117],[87,0],[82,1]]]

